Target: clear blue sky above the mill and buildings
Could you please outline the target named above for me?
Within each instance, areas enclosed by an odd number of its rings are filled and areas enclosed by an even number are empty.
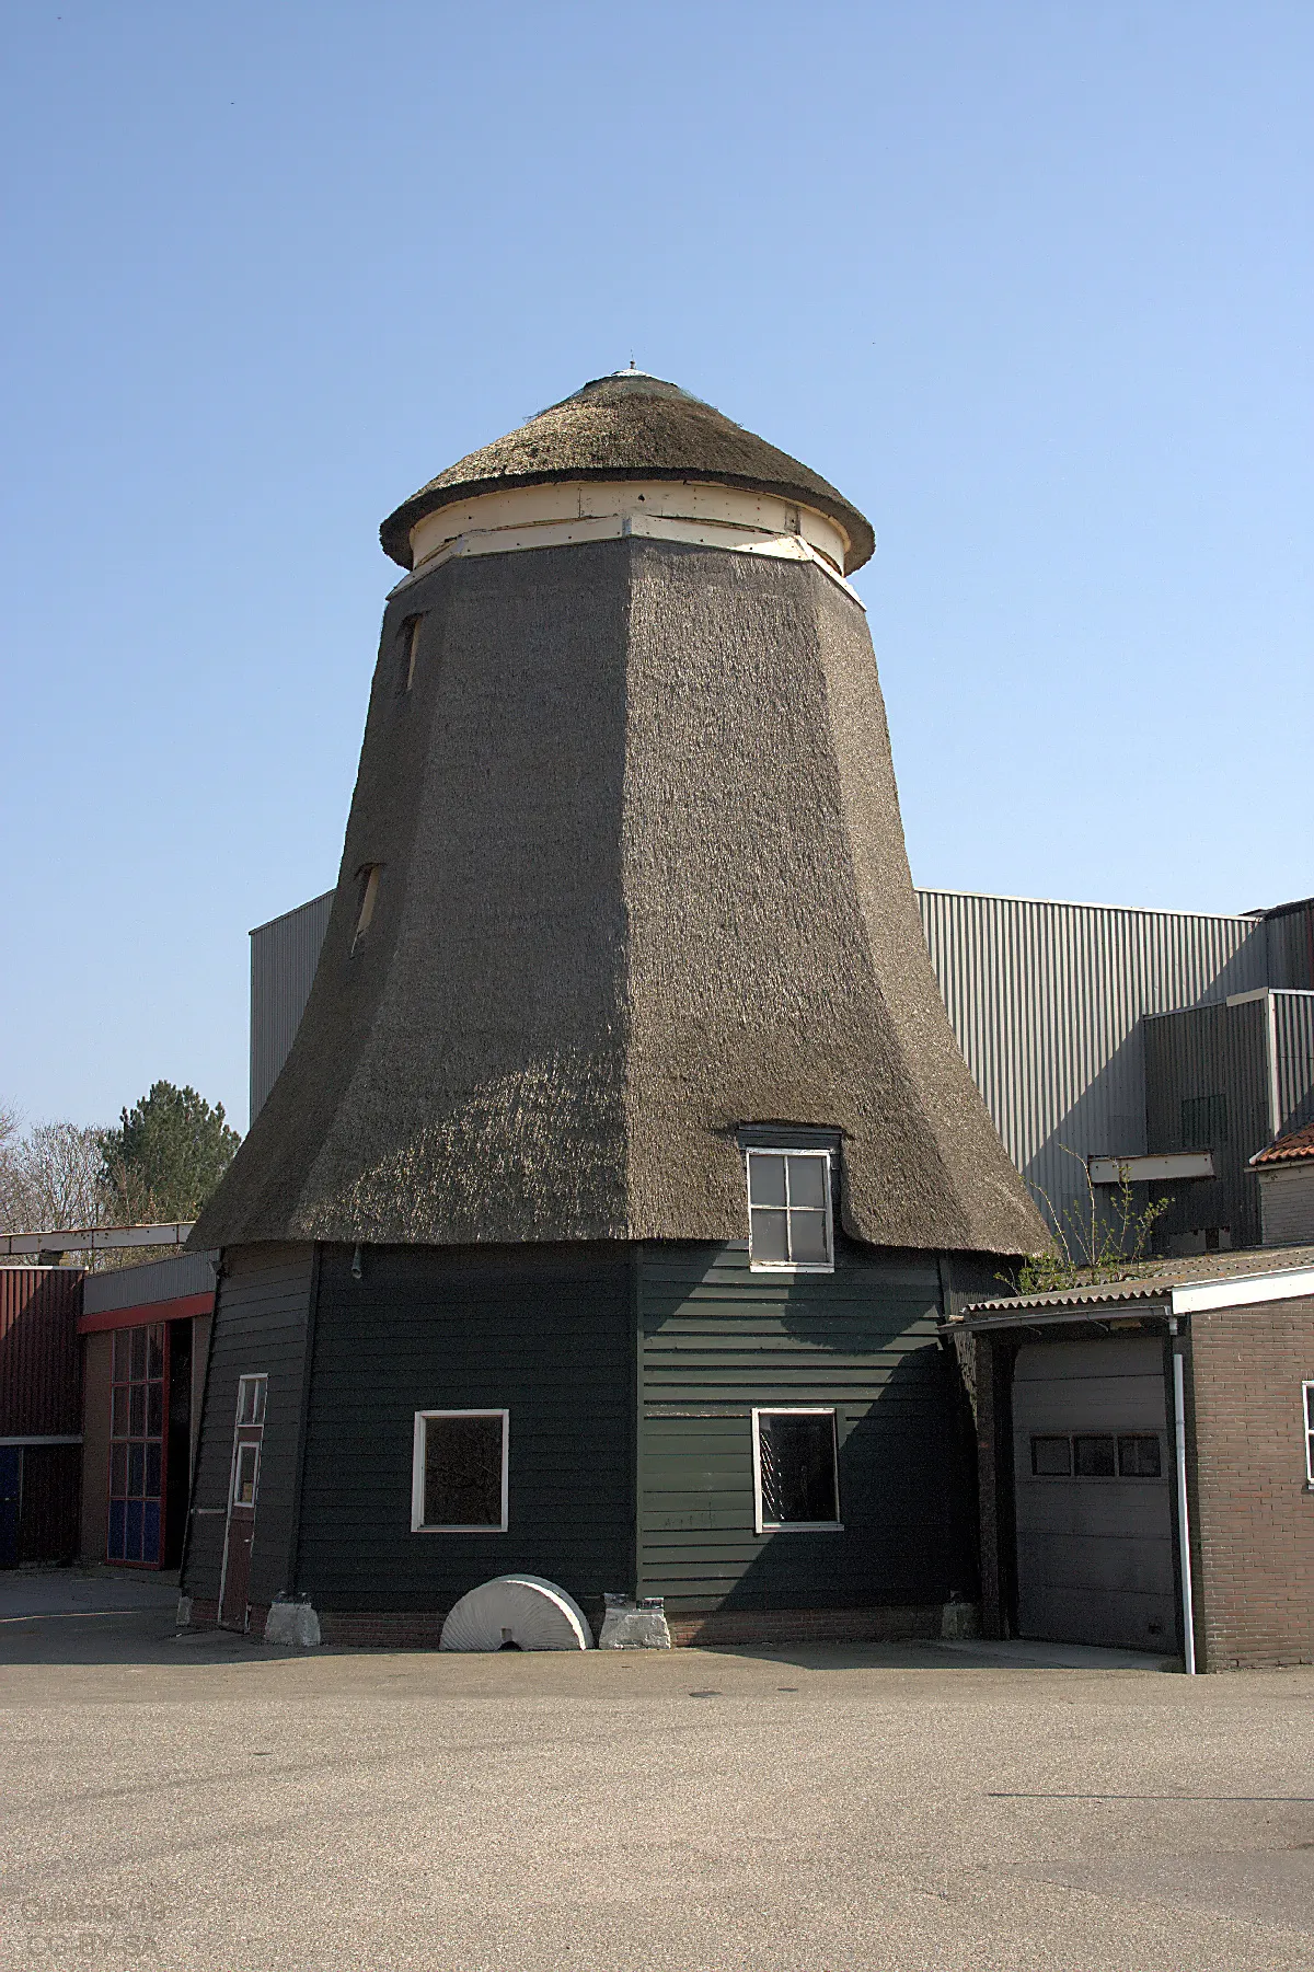
[[[913,878],[1314,891],[1314,10],[10,8],[0,1100],[247,1112],[377,527],[633,355],[835,479]]]

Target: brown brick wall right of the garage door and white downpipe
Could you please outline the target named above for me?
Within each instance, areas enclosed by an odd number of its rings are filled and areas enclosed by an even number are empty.
[[[1314,1298],[1192,1315],[1204,1668],[1314,1662]]]

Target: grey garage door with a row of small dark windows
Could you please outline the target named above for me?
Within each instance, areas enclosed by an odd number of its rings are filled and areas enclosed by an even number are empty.
[[[1020,1633],[1176,1651],[1162,1345],[1020,1349],[1012,1428]]]

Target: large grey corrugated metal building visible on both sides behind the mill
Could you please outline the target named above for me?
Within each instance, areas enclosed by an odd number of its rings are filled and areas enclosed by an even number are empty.
[[[333,891],[326,891],[251,933],[253,1116],[292,1045],[331,901]],[[919,889],[917,903],[963,1057],[1008,1156],[1050,1219],[1085,1211],[1085,1158],[1184,1148],[1168,1118],[1172,1110],[1180,1122],[1184,1094],[1172,1079],[1178,1071],[1150,1100],[1150,1021],[1184,1010],[1225,1008],[1237,996],[1267,998],[1269,988],[1280,988],[1269,1002],[1277,1010],[1275,1061],[1284,1077],[1277,1122],[1261,1120],[1261,1108],[1253,1108],[1253,1118],[1247,1110],[1245,1130],[1235,1136],[1239,1163],[1231,1189],[1205,1185],[1192,1199],[1184,1195],[1166,1223],[1172,1236],[1227,1227],[1229,1217],[1217,1217],[1225,1197],[1225,1213],[1237,1219],[1233,1244],[1251,1227],[1251,1217],[1259,1238],[1257,1205],[1251,1215],[1231,1199],[1255,1193],[1255,1179],[1241,1175],[1245,1158],[1278,1128],[1290,1128],[1300,1102],[1308,1100],[1314,901],[1235,917],[955,889]],[[1249,1035],[1251,1025],[1259,1047],[1263,1033],[1255,1021],[1241,1021],[1235,1031],[1245,1027]],[[1188,1045],[1188,1031],[1176,1047]],[[1207,1031],[1223,1045],[1233,1029],[1219,1023]],[[1168,1057],[1164,1035],[1154,1043],[1156,1075],[1170,1073]],[[1204,1061],[1192,1071],[1194,1081],[1207,1081],[1209,1073]],[[1233,1063],[1229,1073],[1241,1071]],[[1247,1073],[1263,1077],[1267,1071],[1259,1063]],[[1188,1094],[1196,1092],[1211,1091]],[[1231,1154],[1223,1162],[1231,1169]],[[1215,1217],[1202,1217],[1205,1211]]]

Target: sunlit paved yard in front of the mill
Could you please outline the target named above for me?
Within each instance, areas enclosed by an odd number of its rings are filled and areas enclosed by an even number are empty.
[[[290,1656],[10,1578],[0,1966],[1312,1966],[1314,1672],[1024,1658]]]

